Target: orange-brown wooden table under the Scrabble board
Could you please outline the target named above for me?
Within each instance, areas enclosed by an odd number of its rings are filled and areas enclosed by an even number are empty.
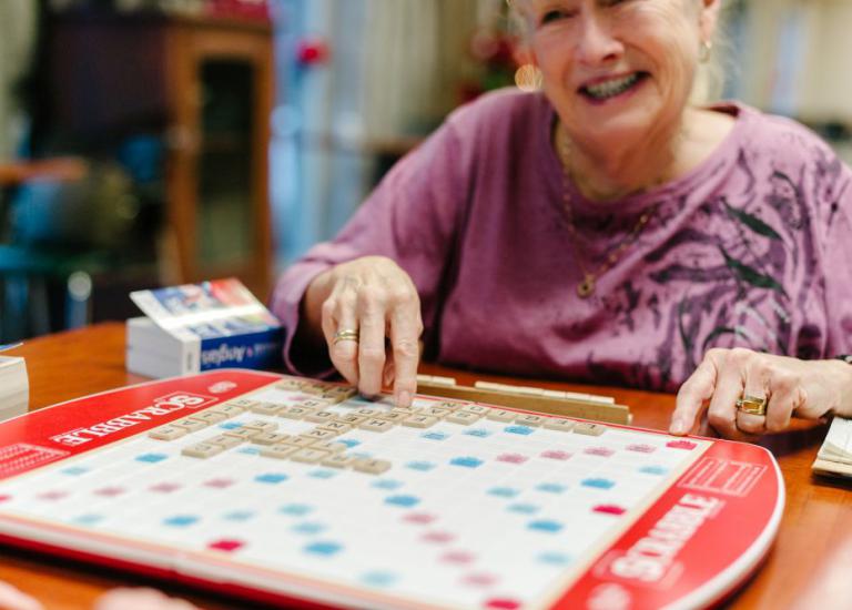
[[[144,380],[124,369],[124,326],[120,323],[32,339],[10,354],[27,358],[31,409]],[[453,376],[465,385],[485,379],[606,394],[629,405],[633,424],[647,428],[665,429],[674,404],[670,395],[621,388],[525,382],[435,365],[424,365],[422,372]],[[852,482],[818,479],[810,469],[824,434],[824,427],[802,426],[765,443],[783,471],[787,507],[769,557],[754,578],[730,600],[730,607],[852,608]],[[145,583],[132,576],[104,575],[94,568],[72,567],[67,561],[2,548],[0,579],[36,596],[49,610],[89,608],[108,588]],[[185,589],[159,586],[206,608],[226,607]]]

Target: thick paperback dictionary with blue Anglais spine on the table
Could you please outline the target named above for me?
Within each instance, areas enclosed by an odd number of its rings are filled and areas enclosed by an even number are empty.
[[[272,368],[278,321],[237,279],[215,279],[130,297],[148,317],[128,321],[126,366],[149,377],[212,368]]]

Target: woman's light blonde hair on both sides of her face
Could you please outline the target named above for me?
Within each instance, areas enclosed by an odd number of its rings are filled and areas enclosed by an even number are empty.
[[[728,3],[719,0],[719,20],[713,32],[712,47],[707,60],[698,63],[696,79],[692,83],[690,102],[697,105],[708,104],[719,100],[722,95],[726,82],[726,73],[729,62],[729,41],[726,37],[726,13]],[[516,39],[520,49],[527,45],[530,35],[529,23],[521,14],[517,0],[506,0],[508,4],[509,33]],[[519,53],[523,54],[523,53]]]

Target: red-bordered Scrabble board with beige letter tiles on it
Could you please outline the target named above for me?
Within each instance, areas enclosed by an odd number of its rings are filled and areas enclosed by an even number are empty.
[[[0,424],[1,542],[273,604],[703,607],[782,509],[761,447],[250,370]]]

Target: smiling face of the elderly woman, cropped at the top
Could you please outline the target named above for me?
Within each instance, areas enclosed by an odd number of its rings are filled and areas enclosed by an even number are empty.
[[[518,0],[544,89],[578,142],[677,130],[718,0]]]

